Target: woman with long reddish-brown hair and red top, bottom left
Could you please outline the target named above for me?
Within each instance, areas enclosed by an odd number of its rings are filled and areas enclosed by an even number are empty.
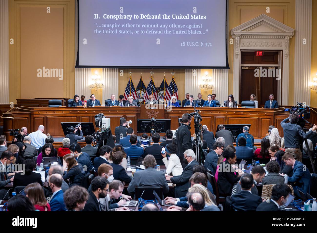
[[[30,199],[36,210],[51,211],[51,206],[47,202],[43,188],[39,183],[31,183],[24,189],[25,195]]]

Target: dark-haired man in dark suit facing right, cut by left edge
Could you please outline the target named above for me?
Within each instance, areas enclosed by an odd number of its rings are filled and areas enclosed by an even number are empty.
[[[13,178],[14,173],[7,173],[6,171],[7,164],[10,164],[13,161],[13,159],[14,159],[14,154],[9,150],[6,150],[1,154],[1,159],[0,159],[0,199],[1,200],[8,199],[8,195],[6,195],[8,191],[4,189],[4,187],[10,182],[12,182],[14,179]]]

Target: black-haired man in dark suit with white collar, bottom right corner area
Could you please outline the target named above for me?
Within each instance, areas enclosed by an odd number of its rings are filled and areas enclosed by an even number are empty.
[[[271,199],[262,202],[256,211],[280,211],[280,206],[286,202],[291,189],[286,184],[276,184],[272,189]]]

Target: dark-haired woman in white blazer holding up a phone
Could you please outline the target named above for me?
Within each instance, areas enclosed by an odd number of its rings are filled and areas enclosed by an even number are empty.
[[[172,174],[173,176],[179,176],[183,172],[182,164],[177,156],[177,147],[175,144],[170,143],[165,147],[165,154],[163,156],[163,162],[166,167],[166,173]],[[167,155],[170,156],[169,160],[167,160]]]

